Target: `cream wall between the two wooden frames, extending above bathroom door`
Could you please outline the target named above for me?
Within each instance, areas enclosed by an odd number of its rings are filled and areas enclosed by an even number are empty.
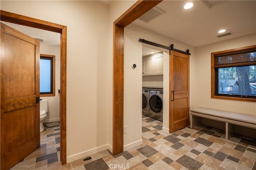
[[[99,1],[0,3],[1,10],[67,26],[67,162],[111,148],[108,5]]]

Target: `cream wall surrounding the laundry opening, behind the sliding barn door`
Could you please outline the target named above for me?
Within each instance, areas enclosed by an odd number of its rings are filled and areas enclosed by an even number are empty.
[[[161,34],[157,34],[142,27],[130,24],[124,28],[124,126],[128,126],[128,133],[124,134],[124,145],[126,148],[133,146],[134,142],[139,143],[141,139],[141,120],[142,120],[142,43],[138,42],[140,38],[169,46],[174,44],[176,49],[186,51],[190,49],[190,77],[192,83],[190,92],[193,94],[194,89],[194,65],[195,49],[190,45],[178,42]],[[164,52],[164,120],[163,129],[169,130],[169,111],[168,111],[168,90],[169,90],[169,55]],[[137,65],[136,69],[132,70],[132,64]],[[129,75],[128,75],[129,74]],[[144,76],[145,77],[145,76]],[[190,103],[193,103],[194,96],[190,93]],[[192,104],[193,105],[193,104]],[[194,106],[194,105],[193,105]]]

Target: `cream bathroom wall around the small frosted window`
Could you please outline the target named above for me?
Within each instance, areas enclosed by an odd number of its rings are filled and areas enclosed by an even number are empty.
[[[55,96],[40,97],[40,99],[47,99],[49,105],[49,112],[44,123],[60,121],[60,96],[58,93],[58,89],[60,89],[60,47],[40,44],[40,54],[55,55]]]

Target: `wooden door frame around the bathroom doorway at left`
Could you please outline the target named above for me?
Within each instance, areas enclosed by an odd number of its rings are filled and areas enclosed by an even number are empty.
[[[42,30],[58,32],[60,38],[60,160],[66,164],[66,49],[67,27],[52,22],[38,20],[11,12],[0,11],[0,20]]]

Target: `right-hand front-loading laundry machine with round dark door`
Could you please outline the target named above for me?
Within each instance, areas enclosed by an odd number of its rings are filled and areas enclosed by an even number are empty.
[[[149,91],[149,117],[163,121],[163,91]]]

